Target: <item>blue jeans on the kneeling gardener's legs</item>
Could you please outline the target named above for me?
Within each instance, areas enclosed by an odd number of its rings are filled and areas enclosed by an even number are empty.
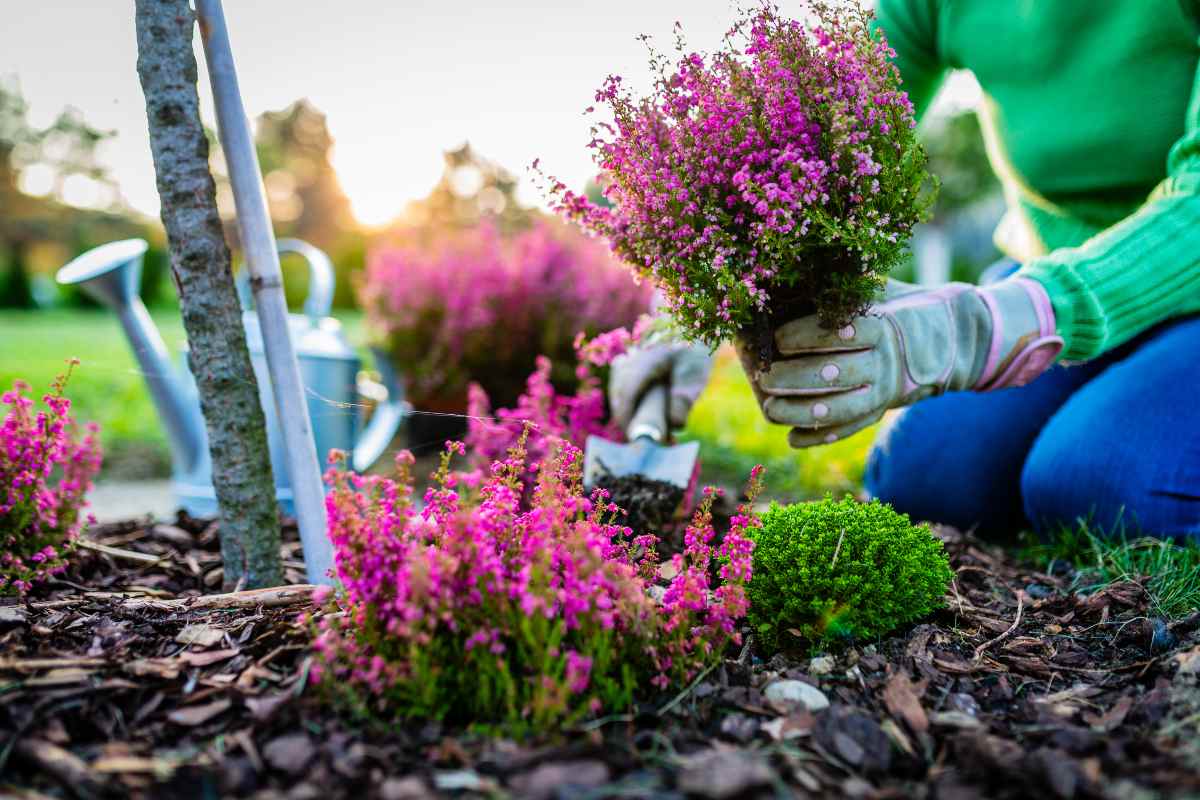
[[[984,535],[1086,519],[1200,537],[1200,317],[1027,386],[922,401],[880,435],[865,483],[914,519]]]

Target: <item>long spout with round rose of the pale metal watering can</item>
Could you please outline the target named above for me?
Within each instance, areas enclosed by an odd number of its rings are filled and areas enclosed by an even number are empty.
[[[200,459],[203,421],[185,397],[162,335],[138,295],[146,247],[142,239],[95,247],[60,269],[55,279],[78,285],[116,313],[167,429],[176,468],[187,473]]]

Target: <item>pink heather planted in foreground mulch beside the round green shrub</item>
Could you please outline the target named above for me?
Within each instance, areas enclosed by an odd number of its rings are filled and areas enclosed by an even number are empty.
[[[342,589],[317,600],[313,674],[337,702],[371,718],[545,730],[683,686],[739,642],[749,503],[716,546],[707,495],[656,587],[655,537],[584,497],[578,449],[559,441],[528,507],[523,440],[486,477],[452,474],[452,452],[463,445],[448,443],[420,511],[407,453],[396,480],[330,470]]]

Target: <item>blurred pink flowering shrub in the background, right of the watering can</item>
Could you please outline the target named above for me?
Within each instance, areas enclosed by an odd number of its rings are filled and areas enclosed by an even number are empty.
[[[416,408],[462,411],[472,381],[514,403],[538,354],[569,365],[577,333],[632,324],[650,288],[601,243],[541,218],[511,237],[481,224],[433,245],[377,249],[360,296],[371,338]],[[566,389],[570,368],[553,379]]]

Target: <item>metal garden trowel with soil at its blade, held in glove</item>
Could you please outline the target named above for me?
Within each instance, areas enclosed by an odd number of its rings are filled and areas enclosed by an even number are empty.
[[[638,475],[686,489],[696,469],[700,443],[665,445],[667,431],[667,387],[658,384],[647,390],[626,428],[629,444],[600,437],[588,437],[583,456],[583,485],[595,486],[605,476]]]

